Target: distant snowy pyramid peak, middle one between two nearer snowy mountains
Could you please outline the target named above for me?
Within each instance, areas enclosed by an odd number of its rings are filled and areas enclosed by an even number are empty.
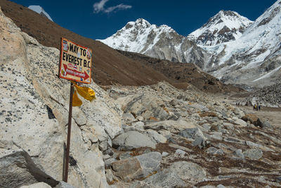
[[[241,37],[244,30],[253,23],[234,11],[219,11],[200,29],[188,35],[188,39],[202,46],[213,46]]]

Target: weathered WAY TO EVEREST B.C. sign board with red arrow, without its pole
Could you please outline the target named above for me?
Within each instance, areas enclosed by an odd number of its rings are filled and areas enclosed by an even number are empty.
[[[91,63],[91,49],[61,38],[58,77],[90,84]]]

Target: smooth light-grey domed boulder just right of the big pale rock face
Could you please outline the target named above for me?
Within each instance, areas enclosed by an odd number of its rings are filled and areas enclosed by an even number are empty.
[[[118,149],[131,150],[139,147],[155,148],[156,143],[145,134],[136,131],[129,131],[120,134],[112,140],[112,146]]]

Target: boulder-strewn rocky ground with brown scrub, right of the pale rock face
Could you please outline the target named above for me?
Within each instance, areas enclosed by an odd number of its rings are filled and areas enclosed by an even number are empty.
[[[108,87],[124,133],[105,171],[112,187],[280,187],[280,127],[167,83]]]

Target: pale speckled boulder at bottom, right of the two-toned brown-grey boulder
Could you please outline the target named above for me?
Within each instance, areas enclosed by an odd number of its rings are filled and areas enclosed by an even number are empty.
[[[172,163],[169,169],[181,177],[181,180],[190,181],[191,179],[199,182],[206,177],[206,171],[200,165],[192,162],[178,161]]]

